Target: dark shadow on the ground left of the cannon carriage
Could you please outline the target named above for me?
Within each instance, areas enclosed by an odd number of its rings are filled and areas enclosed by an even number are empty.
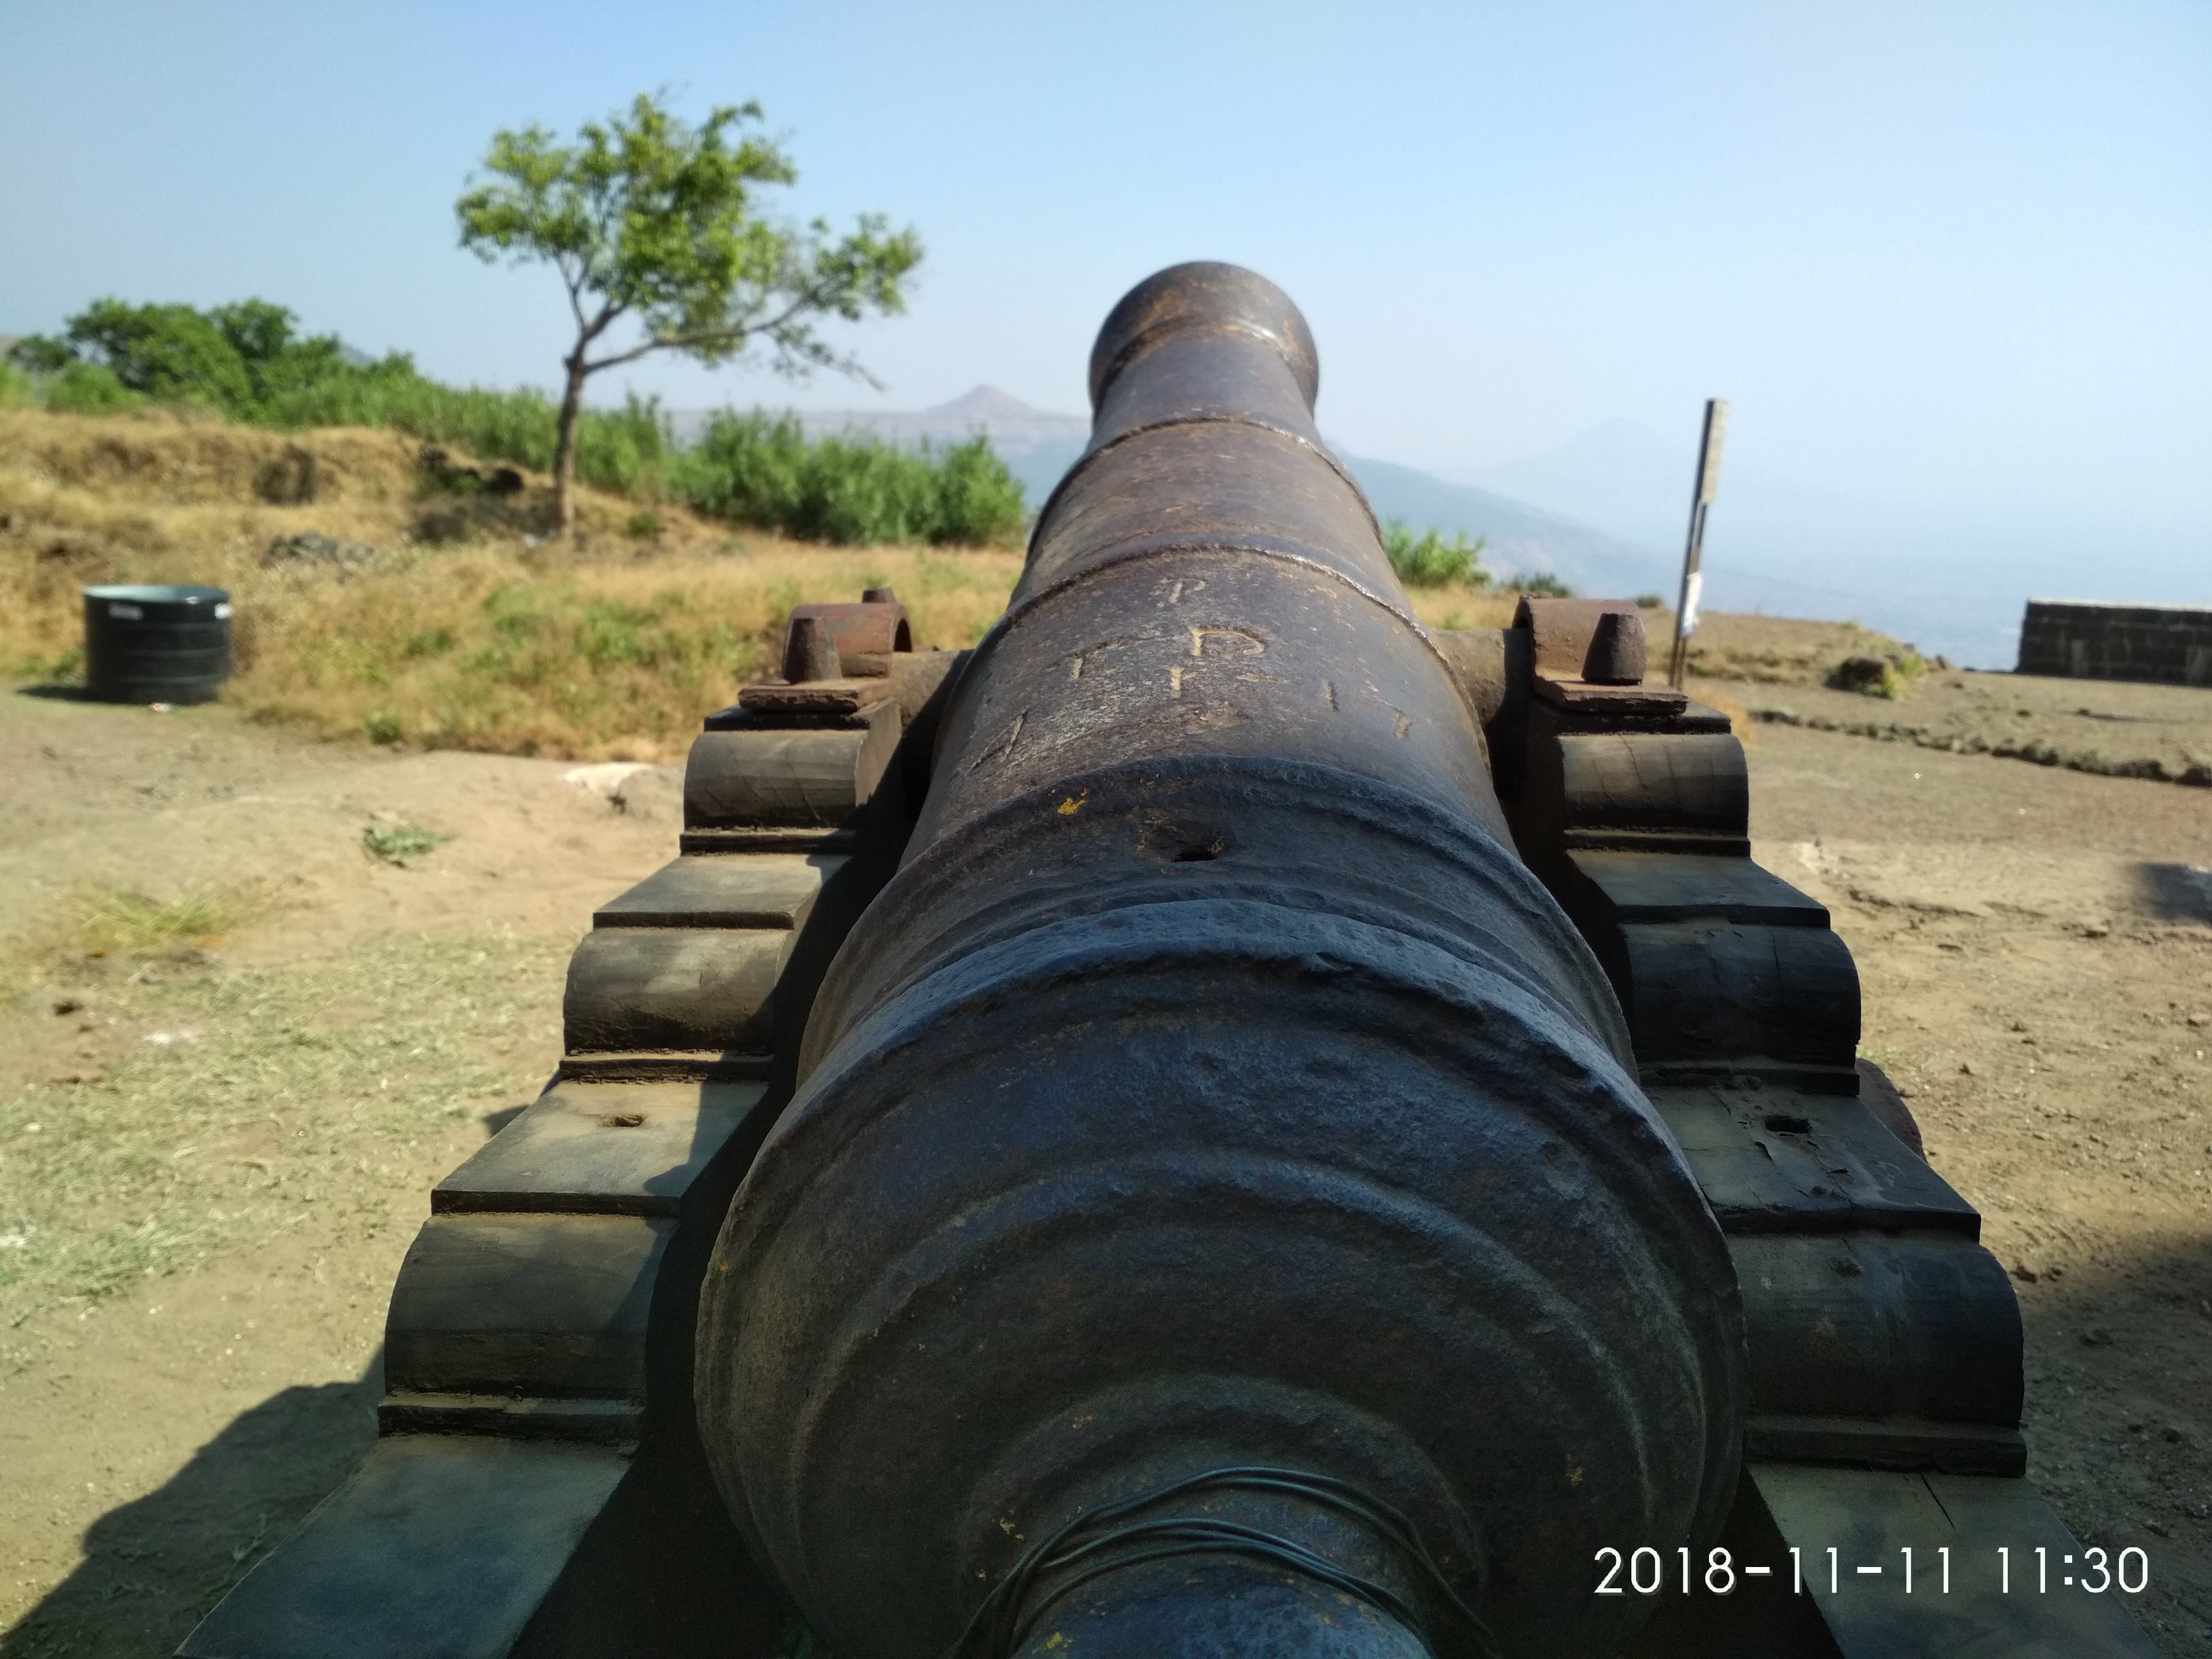
[[[292,1387],[241,1413],[161,1489],[84,1533],[84,1562],[0,1632],[0,1659],[175,1652],[376,1438],[383,1354],[356,1383]]]

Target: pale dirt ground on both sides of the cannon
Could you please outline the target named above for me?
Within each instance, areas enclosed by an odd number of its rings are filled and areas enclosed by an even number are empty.
[[[2212,792],[1754,737],[1759,858],[1832,905],[1865,1051],[2015,1274],[2033,1473],[2212,1652]],[[593,905],[672,854],[668,774],[617,810],[566,770],[0,697],[0,1657],[173,1650],[365,1449],[427,1188],[535,1093]],[[400,823],[451,841],[363,849]],[[71,956],[115,887],[257,914]]]

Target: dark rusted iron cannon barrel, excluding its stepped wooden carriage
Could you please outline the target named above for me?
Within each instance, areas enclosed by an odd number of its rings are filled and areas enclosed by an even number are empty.
[[[834,1652],[1608,1650],[1728,1509],[1723,1239],[1316,385],[1232,265],[1106,319],[723,1225],[703,1444]]]

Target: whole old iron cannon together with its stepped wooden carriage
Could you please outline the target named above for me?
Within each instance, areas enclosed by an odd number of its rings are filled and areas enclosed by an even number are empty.
[[[181,1652],[2150,1652],[2000,1586],[2011,1285],[1728,721],[1422,628],[1316,389],[1166,270],[973,650],[794,611]]]

